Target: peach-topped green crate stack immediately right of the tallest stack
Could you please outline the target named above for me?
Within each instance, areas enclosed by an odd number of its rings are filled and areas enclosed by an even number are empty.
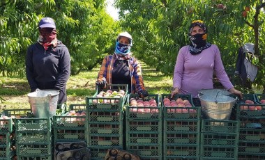
[[[162,107],[158,95],[131,94],[126,107],[126,150],[143,160],[162,159]]]

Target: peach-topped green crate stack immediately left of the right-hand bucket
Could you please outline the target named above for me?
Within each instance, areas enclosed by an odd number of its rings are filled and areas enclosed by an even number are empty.
[[[164,107],[163,159],[199,159],[200,107],[192,104],[190,95],[172,98],[162,95],[161,102]]]

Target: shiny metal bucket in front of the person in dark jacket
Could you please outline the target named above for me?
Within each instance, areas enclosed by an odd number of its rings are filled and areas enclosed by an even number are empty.
[[[50,118],[56,115],[59,90],[36,90],[29,93],[29,104],[36,118]]]

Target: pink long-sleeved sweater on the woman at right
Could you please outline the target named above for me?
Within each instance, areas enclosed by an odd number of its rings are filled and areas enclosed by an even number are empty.
[[[179,94],[197,97],[199,90],[213,88],[213,71],[227,90],[234,87],[227,77],[216,45],[211,45],[197,55],[190,54],[188,45],[184,46],[176,58],[173,87],[180,88]]]

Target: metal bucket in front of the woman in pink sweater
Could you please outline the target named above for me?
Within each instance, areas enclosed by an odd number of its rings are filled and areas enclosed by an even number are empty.
[[[198,95],[201,106],[202,115],[210,120],[229,120],[230,115],[236,102],[236,99],[226,95]]]

